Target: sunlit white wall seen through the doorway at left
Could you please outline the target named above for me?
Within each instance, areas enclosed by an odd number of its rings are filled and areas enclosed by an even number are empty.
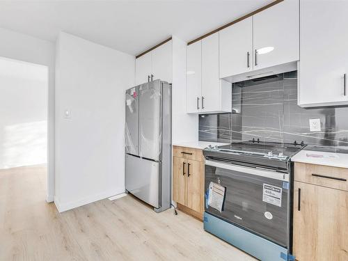
[[[0,168],[47,163],[48,68],[0,58]]]

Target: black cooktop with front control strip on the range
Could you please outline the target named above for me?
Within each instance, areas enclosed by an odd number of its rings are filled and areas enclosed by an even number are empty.
[[[262,142],[253,139],[231,143],[223,146],[205,148],[203,154],[206,158],[223,161],[239,161],[243,163],[280,168],[288,170],[288,163],[292,156],[302,150],[306,145],[301,143],[276,143]]]

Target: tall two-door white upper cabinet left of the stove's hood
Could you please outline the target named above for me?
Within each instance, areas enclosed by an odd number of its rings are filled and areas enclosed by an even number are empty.
[[[230,112],[232,84],[219,79],[219,33],[187,47],[187,113]]]

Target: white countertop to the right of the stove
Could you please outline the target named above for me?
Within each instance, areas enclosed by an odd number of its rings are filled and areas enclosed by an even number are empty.
[[[294,162],[348,168],[348,154],[301,150],[291,159]]]

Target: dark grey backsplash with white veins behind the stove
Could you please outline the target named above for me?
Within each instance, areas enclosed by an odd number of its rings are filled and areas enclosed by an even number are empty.
[[[297,105],[297,73],[242,81],[232,87],[232,113],[199,116],[200,141],[262,141],[348,147],[348,107]],[[321,132],[310,132],[319,118]]]

